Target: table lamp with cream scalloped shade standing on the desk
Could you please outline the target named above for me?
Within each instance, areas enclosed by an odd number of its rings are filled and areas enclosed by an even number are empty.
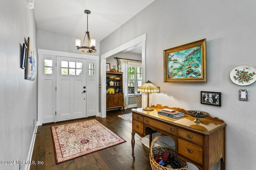
[[[149,95],[151,93],[157,93],[159,92],[159,88],[156,87],[154,84],[152,84],[149,80],[143,84],[142,86],[138,87],[137,89],[138,92],[145,92],[147,95],[148,95],[148,106],[145,107],[143,110],[146,110],[146,111],[152,111],[154,109],[150,108],[149,107]]]

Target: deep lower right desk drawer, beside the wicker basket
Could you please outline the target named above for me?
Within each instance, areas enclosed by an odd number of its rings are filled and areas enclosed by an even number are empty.
[[[202,147],[188,141],[184,141],[183,139],[178,139],[178,153],[198,162],[199,164],[203,163]]]

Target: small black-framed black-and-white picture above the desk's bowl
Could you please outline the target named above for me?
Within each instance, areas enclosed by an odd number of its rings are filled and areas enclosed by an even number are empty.
[[[201,104],[221,106],[221,93],[220,92],[202,92],[201,91]]]

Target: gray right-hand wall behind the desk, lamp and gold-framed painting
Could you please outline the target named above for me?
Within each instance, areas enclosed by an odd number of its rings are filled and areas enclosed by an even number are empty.
[[[150,103],[202,110],[223,119],[227,170],[255,168],[256,83],[238,86],[229,78],[235,66],[256,67],[255,9],[255,0],[155,0],[100,42],[104,54],[147,34],[146,80],[161,89],[150,95]],[[207,83],[164,83],[163,50],[204,38]],[[238,89],[249,90],[249,102],[238,100]],[[200,104],[200,91],[222,92],[222,107]]]

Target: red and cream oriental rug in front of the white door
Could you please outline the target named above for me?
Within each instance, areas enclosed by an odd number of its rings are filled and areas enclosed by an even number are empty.
[[[96,119],[52,126],[56,164],[126,142]]]

